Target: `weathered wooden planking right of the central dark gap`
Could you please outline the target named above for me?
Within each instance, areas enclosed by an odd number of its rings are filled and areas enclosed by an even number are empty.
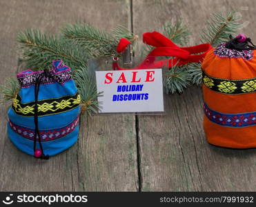
[[[166,21],[182,17],[193,32],[192,45],[211,12],[237,8],[245,22],[253,17],[253,6],[253,1],[135,0],[134,31],[160,30]],[[254,24],[250,21],[243,32],[256,39]],[[256,190],[255,149],[231,150],[206,142],[199,88],[166,95],[165,102],[166,115],[138,117],[141,190]]]

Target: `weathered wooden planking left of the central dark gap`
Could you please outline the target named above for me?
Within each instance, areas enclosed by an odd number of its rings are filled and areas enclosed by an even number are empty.
[[[130,26],[129,6],[129,1],[115,0],[1,1],[1,77],[17,72],[15,39],[20,30],[38,28],[52,33],[75,21],[103,29]],[[1,110],[1,191],[137,190],[134,116],[91,117],[82,124],[78,143],[48,161],[29,157],[12,146],[5,117],[6,111]]]

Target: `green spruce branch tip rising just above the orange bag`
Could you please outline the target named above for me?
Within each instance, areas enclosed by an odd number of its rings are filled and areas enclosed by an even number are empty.
[[[236,21],[236,12],[212,14],[206,28],[202,31],[200,41],[210,43],[214,47],[227,41],[230,34],[235,34],[239,28],[242,28],[242,25]]]

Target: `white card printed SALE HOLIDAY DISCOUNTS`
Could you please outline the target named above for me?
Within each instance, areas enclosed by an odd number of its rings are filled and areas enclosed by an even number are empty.
[[[161,69],[96,71],[100,113],[164,112]]]

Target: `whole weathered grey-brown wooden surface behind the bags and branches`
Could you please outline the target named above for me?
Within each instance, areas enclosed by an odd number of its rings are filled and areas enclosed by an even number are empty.
[[[254,0],[0,0],[0,82],[17,72],[17,32],[57,32],[86,21],[135,34],[184,19],[198,43],[211,12],[238,10],[243,32],[256,41]],[[141,39],[140,39],[141,40]],[[256,149],[210,146],[202,128],[200,88],[166,95],[166,115],[96,116],[81,128],[75,146],[48,161],[20,152],[6,136],[1,109],[0,190],[37,191],[255,191]]]

